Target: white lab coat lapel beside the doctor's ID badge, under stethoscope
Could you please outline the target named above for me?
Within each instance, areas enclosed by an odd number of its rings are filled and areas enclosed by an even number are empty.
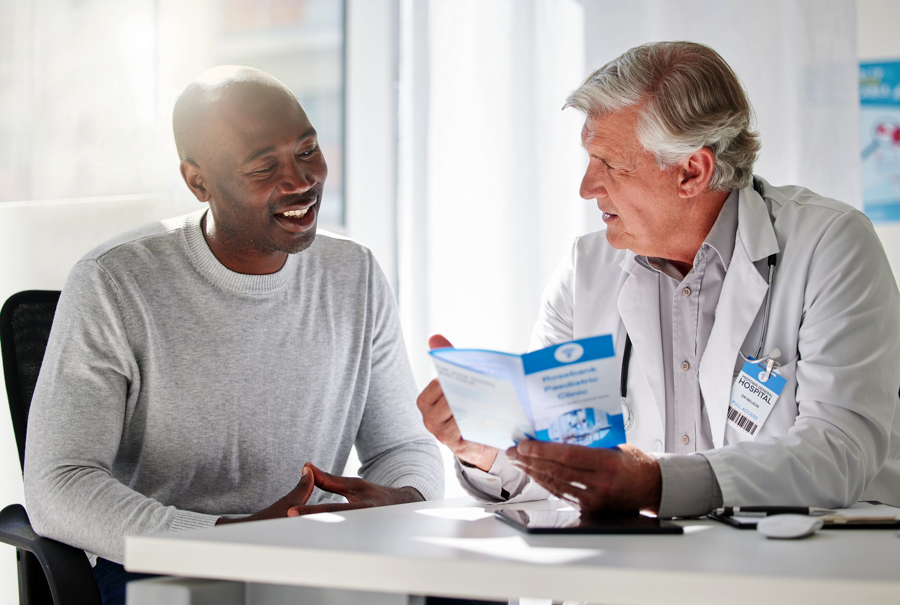
[[[763,190],[763,192],[765,192]],[[738,198],[734,254],[716,306],[716,321],[700,361],[700,390],[707,406],[713,445],[725,441],[725,419],[738,351],[765,302],[768,282],[753,262],[779,252],[769,209],[752,185]],[[636,350],[636,347],[635,347]],[[756,351],[744,351],[753,354]]]

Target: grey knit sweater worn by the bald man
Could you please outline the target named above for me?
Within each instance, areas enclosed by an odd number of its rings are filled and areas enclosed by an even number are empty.
[[[340,474],[354,443],[365,479],[442,497],[372,254],[320,233],[281,271],[236,273],[201,218],[119,236],[69,274],[28,421],[34,529],[121,562],[125,536],[257,512],[306,461]]]

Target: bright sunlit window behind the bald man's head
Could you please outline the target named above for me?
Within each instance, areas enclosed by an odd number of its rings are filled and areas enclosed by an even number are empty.
[[[329,164],[320,224],[343,231],[344,13],[338,0],[0,3],[0,202],[160,193],[178,173],[172,108],[216,65],[287,85]]]

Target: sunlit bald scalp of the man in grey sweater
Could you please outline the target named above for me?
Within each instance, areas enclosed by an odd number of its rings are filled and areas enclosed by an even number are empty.
[[[196,165],[208,161],[220,148],[226,124],[266,120],[273,103],[299,120],[306,112],[291,90],[274,76],[254,67],[223,65],[204,71],[175,102],[172,129],[178,158]]]

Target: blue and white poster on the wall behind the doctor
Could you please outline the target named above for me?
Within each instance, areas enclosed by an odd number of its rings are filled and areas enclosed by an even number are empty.
[[[900,60],[860,63],[860,142],[866,214],[900,220]]]

